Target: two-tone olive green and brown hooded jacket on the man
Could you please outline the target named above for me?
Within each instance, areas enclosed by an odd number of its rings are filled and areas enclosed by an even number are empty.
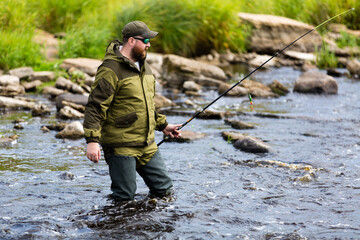
[[[104,147],[148,146],[154,130],[167,126],[155,112],[155,77],[146,61],[139,71],[120,46],[118,40],[109,44],[97,70],[85,108],[85,138]]]

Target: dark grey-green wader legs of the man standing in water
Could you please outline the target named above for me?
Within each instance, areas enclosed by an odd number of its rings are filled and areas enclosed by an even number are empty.
[[[151,197],[163,197],[171,193],[172,181],[159,151],[144,166],[136,167],[136,158],[107,155],[111,178],[111,191],[118,200],[133,200],[136,192],[136,172],[150,189]]]

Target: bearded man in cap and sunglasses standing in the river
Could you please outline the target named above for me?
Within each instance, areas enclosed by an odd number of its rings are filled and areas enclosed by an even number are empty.
[[[86,105],[86,156],[97,163],[102,145],[114,198],[134,199],[136,172],[152,197],[166,196],[172,181],[154,142],[154,130],[180,137],[181,125],[168,124],[155,111],[155,78],[145,58],[150,39],[158,33],[133,21],[122,34],[123,44],[115,40],[107,47]]]

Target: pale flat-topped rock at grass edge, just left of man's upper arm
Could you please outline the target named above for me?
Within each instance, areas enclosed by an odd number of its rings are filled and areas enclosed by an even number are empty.
[[[91,58],[68,58],[65,59],[60,68],[68,70],[75,67],[90,76],[95,76],[97,68],[101,65],[102,61]]]

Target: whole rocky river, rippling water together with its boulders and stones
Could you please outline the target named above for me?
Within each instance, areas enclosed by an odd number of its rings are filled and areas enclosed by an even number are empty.
[[[157,109],[184,123],[257,66],[256,58],[264,56],[149,54]],[[307,58],[277,59],[188,124],[180,142],[160,146],[173,198],[148,199],[139,179],[136,201],[126,204],[108,198],[107,165],[86,159],[81,138],[100,61],[67,59],[62,76],[3,73],[0,238],[357,238],[359,62],[347,57],[343,68],[326,71]],[[35,94],[47,81],[54,84]]]

